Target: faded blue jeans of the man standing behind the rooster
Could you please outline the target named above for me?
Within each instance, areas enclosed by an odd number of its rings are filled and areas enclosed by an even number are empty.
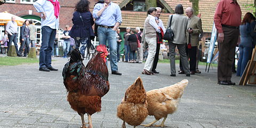
[[[110,67],[111,71],[117,71],[117,43],[116,43],[116,31],[112,28],[98,27],[98,38],[100,44],[109,45],[110,50]]]

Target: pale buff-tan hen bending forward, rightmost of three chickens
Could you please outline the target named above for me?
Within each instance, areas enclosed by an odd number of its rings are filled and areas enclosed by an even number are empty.
[[[155,121],[143,126],[151,126],[159,119],[163,118],[161,125],[154,125],[157,127],[164,127],[165,119],[168,114],[173,114],[179,104],[179,100],[183,94],[185,87],[188,85],[188,80],[183,79],[181,82],[171,86],[166,86],[161,89],[150,90],[147,92],[148,101],[148,115],[154,116]]]

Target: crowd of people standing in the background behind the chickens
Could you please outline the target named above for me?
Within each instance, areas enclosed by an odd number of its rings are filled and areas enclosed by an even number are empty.
[[[180,55],[180,71],[178,74],[190,76],[201,73],[198,70],[198,58],[200,57],[197,56],[199,40],[203,36],[202,21],[201,18],[194,15],[192,7],[187,7],[185,10],[186,16],[183,6],[178,4],[175,7],[175,14],[169,17],[167,29],[160,19],[161,7],[150,7],[147,11],[143,31],[140,27],[126,27],[126,32],[122,38],[119,29],[119,25],[122,23],[120,7],[111,0],[99,1],[94,5],[91,13],[89,5],[90,2],[87,0],[81,0],[76,4],[72,19],[73,27],[69,30],[69,26],[66,26],[66,30],[63,32],[64,58],[70,52],[70,47],[77,47],[84,56],[86,47],[93,47],[91,39],[98,36],[99,44],[108,44],[111,74],[122,75],[122,73],[119,73],[117,65],[117,62],[120,61],[121,42],[124,42],[124,62],[142,63],[145,56],[147,57],[142,74],[154,75],[159,73],[156,70],[159,51],[166,49],[163,51],[169,52],[170,76],[176,76],[176,47]],[[56,53],[58,51],[56,31],[59,27],[59,2],[58,0],[38,0],[34,3],[34,6],[37,12],[42,13],[42,46],[39,56],[39,70],[58,70],[51,66],[51,55],[54,54],[54,52],[52,53],[54,49]],[[232,10],[225,12],[227,9]],[[234,62],[235,47],[239,46],[237,76],[243,74],[255,47],[255,17],[252,13],[246,13],[243,20],[241,17],[242,12],[236,0],[231,2],[221,0],[218,3],[214,14],[214,23],[218,31],[218,83],[221,85],[235,84],[231,82],[231,67]],[[96,27],[93,30],[94,19]],[[33,27],[33,21],[31,22],[26,20],[21,27],[20,50],[18,50],[17,40],[15,39],[18,33],[15,17],[7,24],[6,35],[3,37],[1,44],[7,45],[9,48],[10,42],[13,42],[18,56],[21,56],[21,51],[26,46],[26,52],[23,54],[23,56],[26,56],[29,52],[29,45],[35,46],[35,28]],[[162,42],[166,30],[171,30],[174,34],[173,39],[167,42],[169,47],[166,47],[165,43]],[[9,39],[9,43],[6,44],[7,39]],[[57,43],[54,43],[54,41]]]

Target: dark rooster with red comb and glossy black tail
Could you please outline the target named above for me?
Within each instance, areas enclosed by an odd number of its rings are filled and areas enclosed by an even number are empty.
[[[62,71],[63,83],[67,89],[67,100],[72,109],[77,111],[82,119],[82,128],[86,128],[84,114],[87,114],[89,128],[92,128],[91,115],[101,111],[101,97],[109,91],[108,69],[105,45],[97,47],[98,53],[87,63],[78,49],[73,50],[70,61]]]

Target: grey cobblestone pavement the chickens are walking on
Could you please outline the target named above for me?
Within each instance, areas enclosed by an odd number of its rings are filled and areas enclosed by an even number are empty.
[[[61,75],[68,59],[53,60],[52,66],[59,71],[38,71],[38,63],[0,67],[1,128],[81,125],[80,116],[67,102]],[[102,98],[102,110],[92,115],[93,127],[121,127],[122,121],[116,116],[117,105],[138,76],[141,76],[146,91],[188,79],[189,85],[179,108],[167,117],[166,127],[256,127],[256,86],[218,85],[216,68],[206,73],[202,66],[199,67],[202,74],[186,77],[177,73],[176,77],[171,77],[168,63],[158,63],[160,74],[152,76],[141,74],[143,66],[144,63],[118,63],[123,75],[109,75],[110,91]],[[178,70],[179,66],[176,68]],[[234,75],[232,80],[238,83],[239,77]],[[85,119],[87,121],[87,116]],[[143,124],[153,120],[153,116],[148,116]]]

